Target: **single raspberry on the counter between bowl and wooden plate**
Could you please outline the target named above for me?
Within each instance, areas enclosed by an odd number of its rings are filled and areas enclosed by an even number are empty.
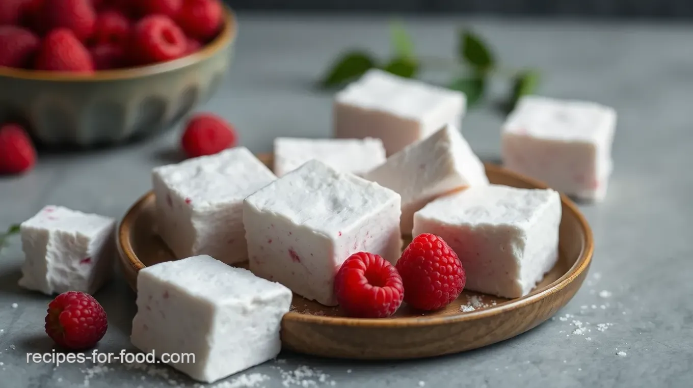
[[[181,145],[188,157],[213,155],[236,145],[236,130],[216,114],[197,114],[186,124]]]

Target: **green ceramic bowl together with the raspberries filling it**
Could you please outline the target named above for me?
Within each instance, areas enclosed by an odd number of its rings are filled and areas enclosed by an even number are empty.
[[[215,93],[235,35],[221,0],[0,0],[0,124],[46,145],[166,130]]]

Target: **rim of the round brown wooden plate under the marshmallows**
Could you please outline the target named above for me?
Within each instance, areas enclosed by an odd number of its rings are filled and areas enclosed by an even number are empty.
[[[258,155],[261,160],[265,155]],[[267,159],[268,157],[265,157]],[[526,177],[519,173],[514,173],[511,170],[502,168],[496,164],[485,163],[484,168],[486,170],[493,170],[495,173],[502,173],[509,175],[514,179],[526,182],[529,185],[535,186],[536,188],[549,188],[543,182],[536,179]],[[145,206],[146,202],[150,198],[154,197],[154,192],[149,191],[145,195],[139,198],[135,202],[125,216],[122,218],[117,229],[117,247],[121,258],[126,256],[128,258],[129,264],[134,268],[136,272],[139,272],[142,268],[146,267],[132,249],[130,244],[130,229],[132,224],[134,224],[134,219],[139,214],[140,209]],[[498,303],[498,305],[492,308],[484,308],[483,310],[475,310],[471,312],[460,312],[456,315],[432,315],[432,316],[421,316],[421,317],[394,317],[385,319],[368,319],[368,318],[351,318],[351,317],[333,317],[327,315],[309,315],[301,314],[300,312],[290,311],[284,315],[283,319],[285,322],[292,323],[303,323],[303,324],[315,324],[319,326],[359,326],[359,327],[369,327],[369,328],[407,328],[407,327],[421,327],[421,326],[440,326],[446,324],[462,323],[465,321],[475,321],[477,319],[486,319],[499,314],[505,314],[511,310],[516,310],[519,308],[525,308],[534,303],[550,297],[563,290],[563,288],[568,287],[570,283],[588,270],[590,263],[592,261],[592,256],[594,253],[594,240],[592,229],[590,228],[586,218],[581,213],[577,205],[570,200],[570,198],[561,193],[561,208],[563,209],[561,217],[565,213],[570,213],[572,217],[577,220],[579,228],[581,229],[584,238],[582,238],[582,249],[579,257],[575,263],[570,267],[570,270],[565,272],[563,276],[556,279],[552,283],[545,285],[543,288],[536,290],[532,294],[525,295],[525,297],[520,297],[516,299],[511,299],[509,301]],[[565,212],[568,209],[568,212]]]

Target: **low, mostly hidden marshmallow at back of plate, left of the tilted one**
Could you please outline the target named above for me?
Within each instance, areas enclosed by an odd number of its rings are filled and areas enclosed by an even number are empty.
[[[380,139],[274,139],[274,173],[278,177],[316,159],[343,173],[361,174],[385,162]]]

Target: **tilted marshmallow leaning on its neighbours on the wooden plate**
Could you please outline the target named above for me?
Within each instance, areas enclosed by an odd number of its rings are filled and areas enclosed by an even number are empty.
[[[363,177],[402,196],[403,233],[412,231],[414,212],[440,195],[489,184],[484,165],[451,125],[392,155]]]

